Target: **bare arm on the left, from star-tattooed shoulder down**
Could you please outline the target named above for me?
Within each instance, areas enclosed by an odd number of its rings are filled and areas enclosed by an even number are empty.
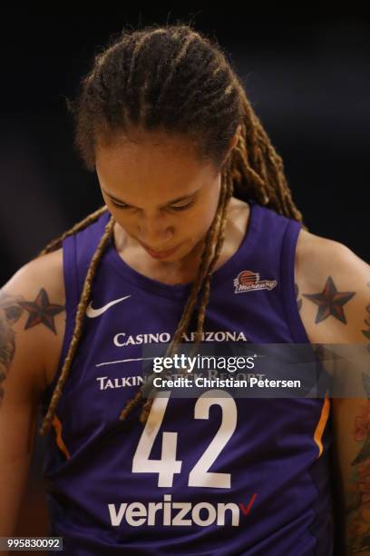
[[[15,528],[50,346],[64,319],[60,262],[55,253],[27,263],[0,289],[0,536]]]

